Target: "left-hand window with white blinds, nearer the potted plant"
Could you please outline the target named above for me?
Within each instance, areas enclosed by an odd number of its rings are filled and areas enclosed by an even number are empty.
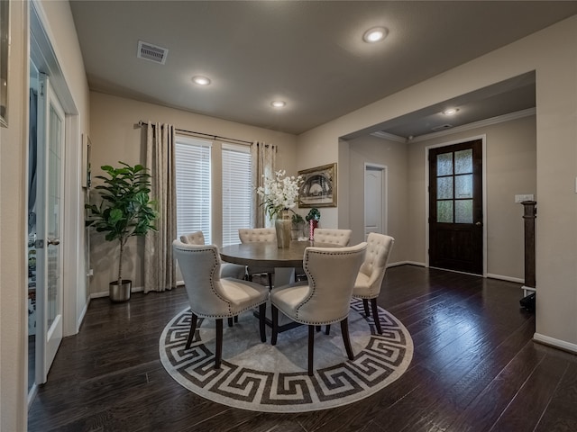
[[[201,230],[211,244],[210,141],[177,135],[177,237]]]

